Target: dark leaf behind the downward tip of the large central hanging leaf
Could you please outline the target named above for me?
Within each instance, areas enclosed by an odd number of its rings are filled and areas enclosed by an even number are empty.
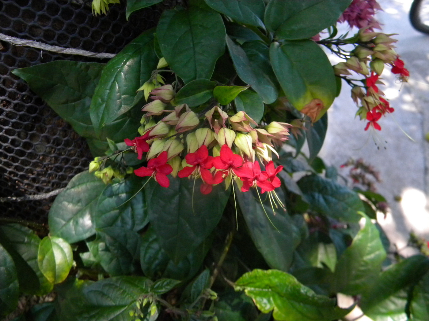
[[[149,228],[142,238],[140,247],[142,271],[151,279],[161,276],[178,280],[190,279],[198,272],[207,253],[209,244],[206,243],[210,242],[203,242],[175,265],[161,248],[153,229]]]

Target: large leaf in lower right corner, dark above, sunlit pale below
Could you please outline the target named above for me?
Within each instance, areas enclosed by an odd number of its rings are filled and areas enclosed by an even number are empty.
[[[428,269],[429,259],[423,255],[411,256],[391,265],[377,279],[372,279],[371,288],[362,297],[361,309],[374,321],[389,317],[392,320],[406,319],[404,294]]]

